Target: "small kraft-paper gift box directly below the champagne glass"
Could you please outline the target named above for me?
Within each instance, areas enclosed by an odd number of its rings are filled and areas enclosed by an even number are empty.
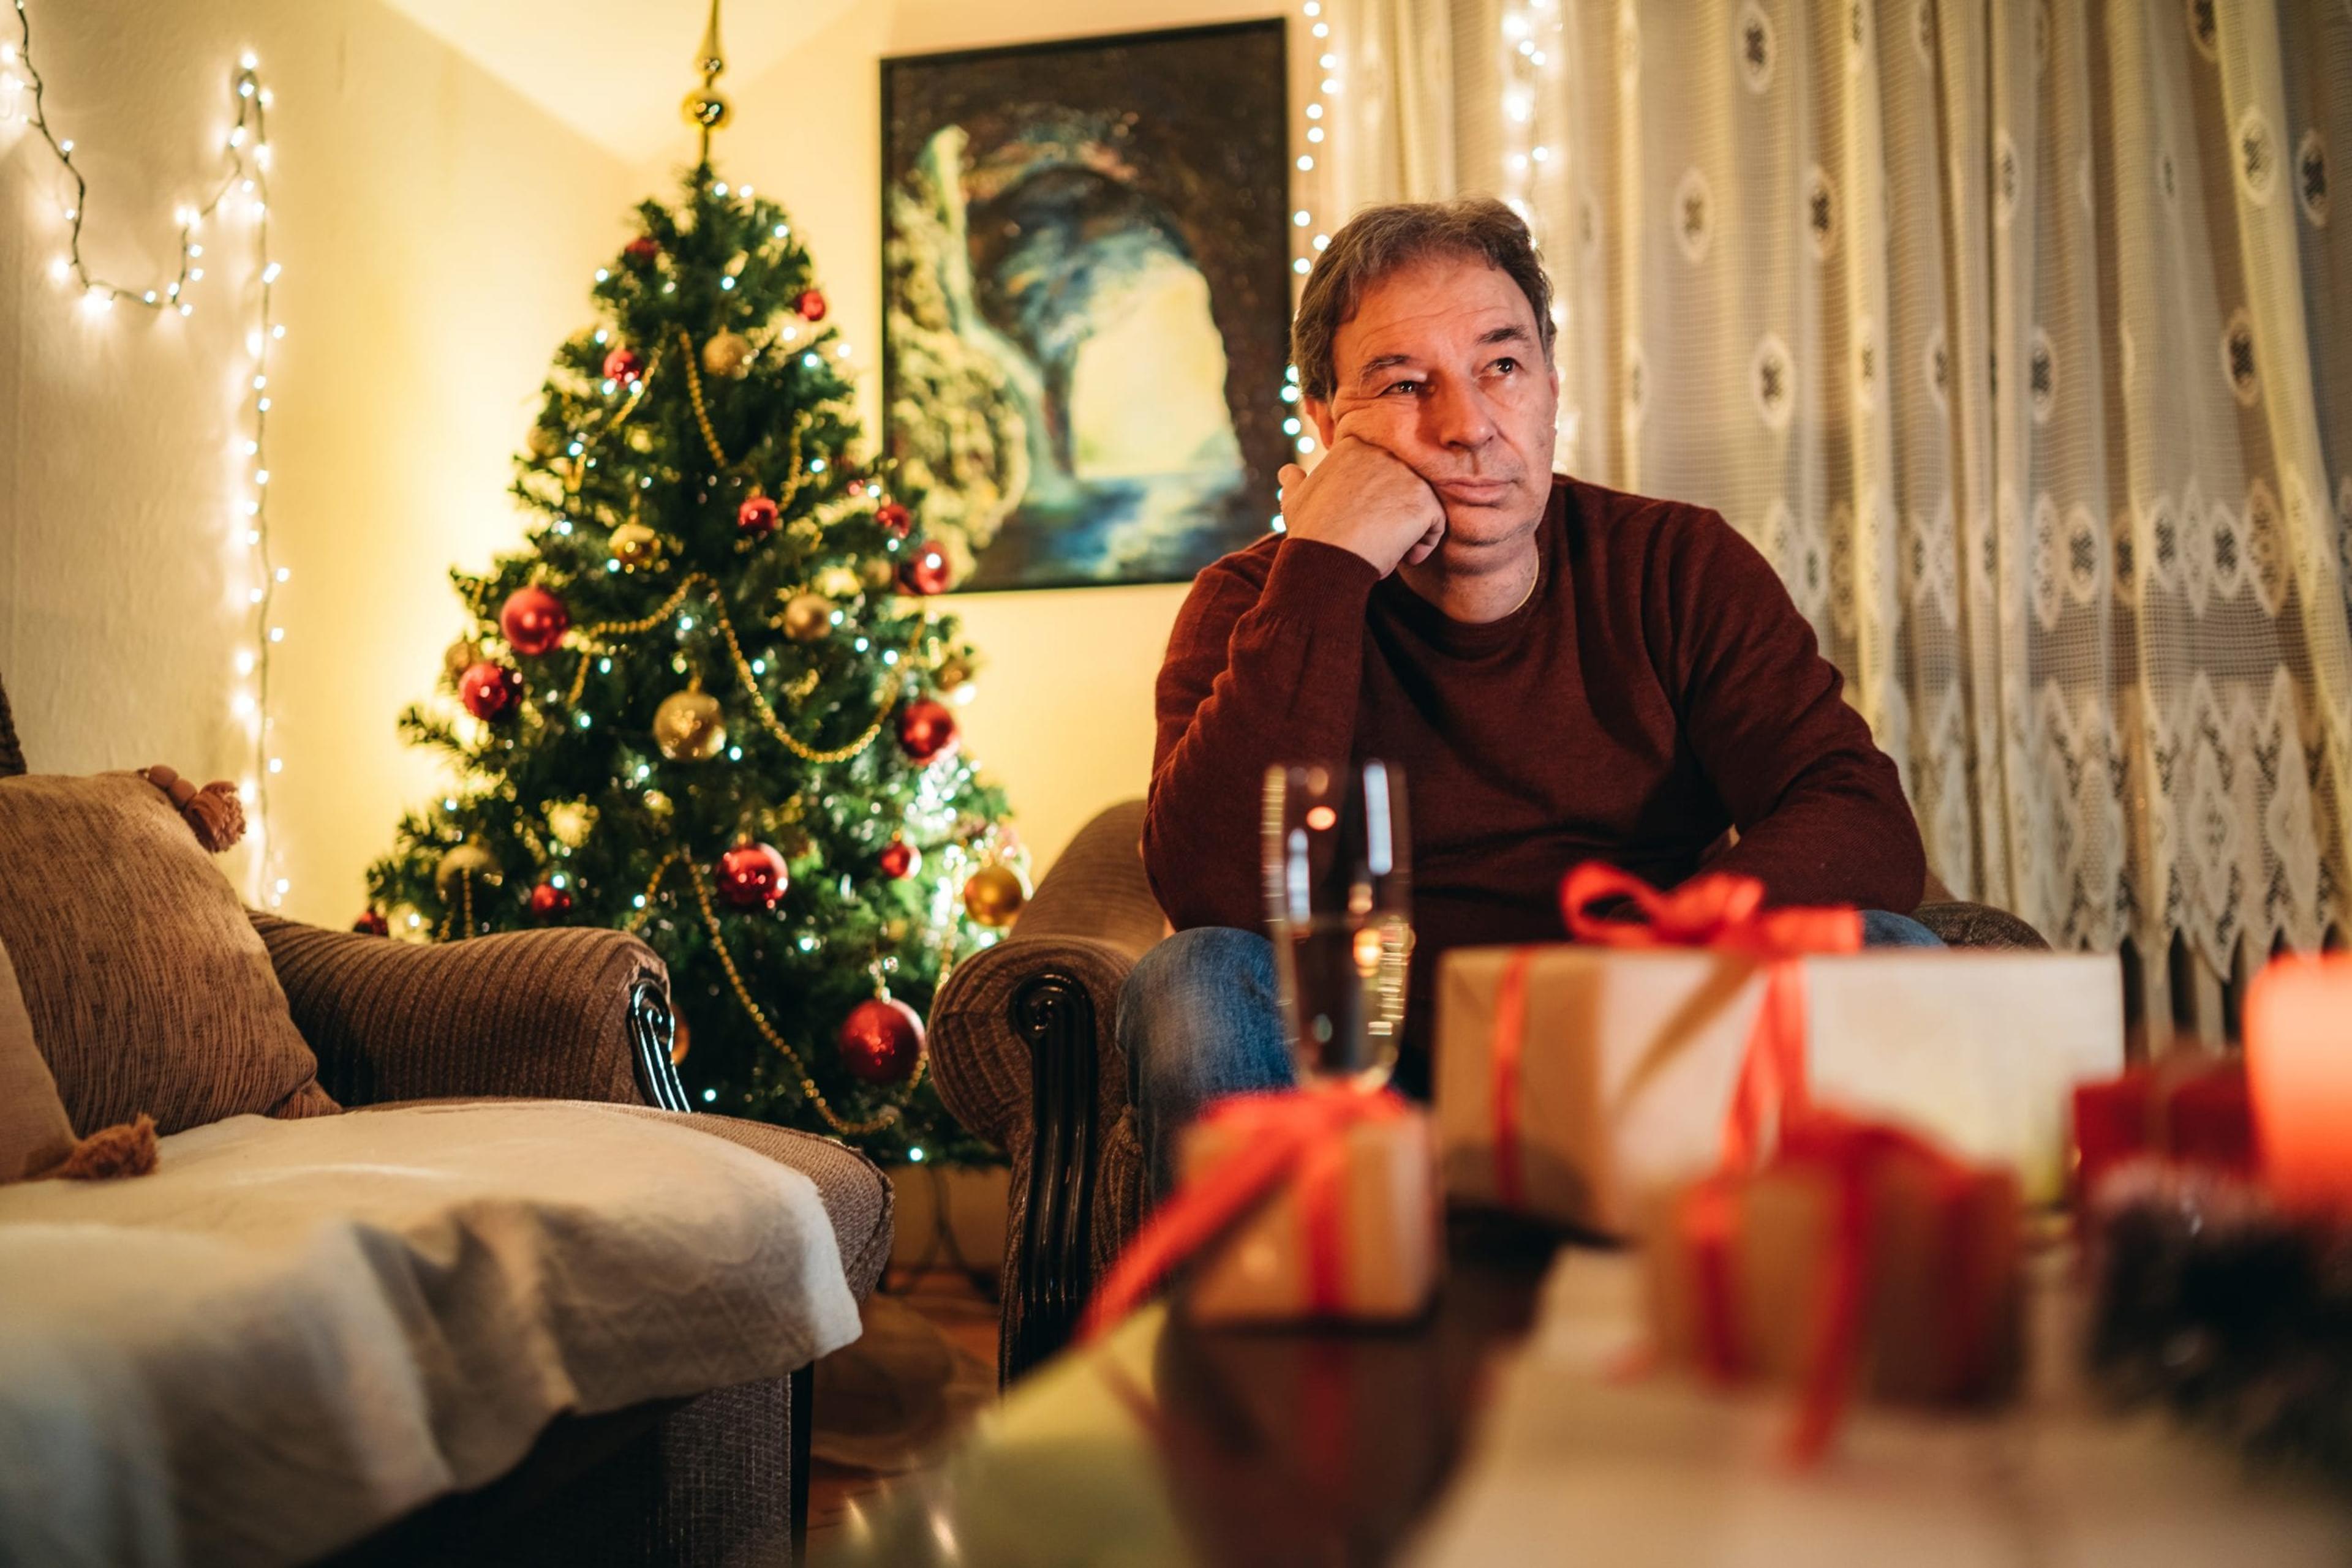
[[[1178,1150],[1195,1180],[1240,1147],[1247,1131],[1195,1121]],[[1334,1133],[1338,1159],[1322,1171],[1331,1190],[1310,1201],[1315,1157],[1242,1218],[1185,1281],[1183,1309],[1197,1324],[1291,1324],[1341,1319],[1397,1324],[1421,1316],[1437,1288],[1437,1161],[1430,1119],[1406,1112]],[[1317,1234],[1317,1222],[1329,1225]],[[1317,1269],[1336,1300],[1317,1302]]]

